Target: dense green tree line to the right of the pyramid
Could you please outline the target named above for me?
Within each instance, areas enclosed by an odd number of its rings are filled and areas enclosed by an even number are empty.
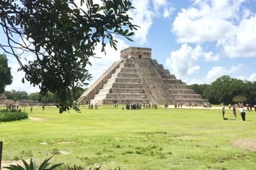
[[[221,76],[207,84],[188,86],[196,94],[207,99],[211,104],[256,104],[256,81],[243,81],[229,76]]]

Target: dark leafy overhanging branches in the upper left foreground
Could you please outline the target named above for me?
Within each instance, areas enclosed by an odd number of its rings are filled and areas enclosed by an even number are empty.
[[[7,37],[7,44],[0,43],[0,48],[16,57],[18,71],[25,72],[24,78],[30,84],[39,85],[40,94],[56,94],[60,113],[72,106],[72,93],[77,87],[87,85],[86,80],[91,78],[85,66],[91,64],[89,57],[95,55],[94,47],[101,45],[105,52],[108,41],[117,49],[114,34],[132,41],[129,37],[137,30],[126,14],[133,9],[130,1],[101,2],[99,5],[87,0],[86,10],[72,0],[0,2],[0,25]],[[17,49],[34,53],[36,60],[22,63],[22,53]]]

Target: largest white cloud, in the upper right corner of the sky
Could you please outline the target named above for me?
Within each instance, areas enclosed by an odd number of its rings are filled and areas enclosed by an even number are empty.
[[[256,57],[256,14],[243,2],[195,0],[172,23],[177,42],[214,42],[229,57]]]

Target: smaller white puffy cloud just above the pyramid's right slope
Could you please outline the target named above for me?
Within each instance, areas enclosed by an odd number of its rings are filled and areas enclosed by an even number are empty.
[[[192,48],[187,44],[182,44],[179,50],[171,52],[165,65],[178,76],[191,75],[200,70],[201,67],[197,64],[197,60],[200,58],[205,61],[216,61],[219,59],[219,55],[213,55],[211,51],[204,52],[200,45]]]

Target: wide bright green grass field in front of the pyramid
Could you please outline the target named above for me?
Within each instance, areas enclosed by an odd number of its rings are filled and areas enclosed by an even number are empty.
[[[1,108],[0,108],[1,109]],[[121,110],[82,113],[34,107],[30,119],[0,122],[2,164],[53,156],[59,169],[255,169],[256,113],[223,120],[218,109]],[[233,118],[226,108],[225,117]],[[52,165],[51,164],[51,165]]]

